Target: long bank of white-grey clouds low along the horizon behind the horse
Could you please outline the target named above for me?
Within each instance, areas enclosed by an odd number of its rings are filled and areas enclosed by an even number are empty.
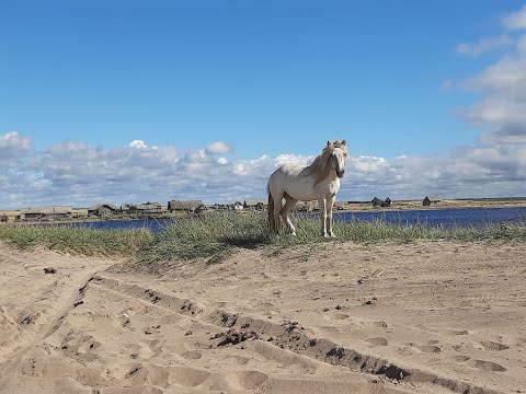
[[[277,166],[307,164],[313,159],[283,153],[229,161],[207,154],[205,149],[181,152],[175,147],[144,146],[103,149],[65,142],[44,152],[31,151],[23,161],[10,161],[0,167],[4,192],[0,207],[263,198],[268,176]],[[375,195],[516,195],[524,193],[526,141],[521,124],[507,125],[485,132],[477,146],[459,148],[447,157],[402,155],[387,160],[352,155],[346,170],[339,196],[342,200],[368,200]]]

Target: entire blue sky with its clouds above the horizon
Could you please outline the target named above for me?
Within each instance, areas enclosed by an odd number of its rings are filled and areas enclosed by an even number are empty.
[[[0,208],[259,197],[335,138],[355,171],[344,199],[524,195],[524,141],[506,140],[525,136],[524,7],[2,2]]]

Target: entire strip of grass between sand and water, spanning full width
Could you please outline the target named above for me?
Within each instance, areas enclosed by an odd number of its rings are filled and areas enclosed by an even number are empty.
[[[526,242],[526,227],[501,229],[431,228],[425,224],[393,225],[382,221],[334,223],[336,241],[320,235],[317,220],[295,217],[297,236],[268,234],[261,212],[213,212],[174,220],[161,232],[141,230],[92,230],[75,227],[0,227],[0,240],[20,248],[43,246],[84,255],[123,256],[141,264],[205,258],[218,263],[239,248],[286,248],[307,245],[318,250],[328,242],[409,243],[421,240],[456,242]]]

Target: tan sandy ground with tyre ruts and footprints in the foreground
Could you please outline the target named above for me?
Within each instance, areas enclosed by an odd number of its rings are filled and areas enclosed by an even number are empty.
[[[0,393],[526,393],[526,246],[139,267],[0,244]]]

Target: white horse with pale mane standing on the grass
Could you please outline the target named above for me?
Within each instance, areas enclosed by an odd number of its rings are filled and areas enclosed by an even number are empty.
[[[268,228],[278,233],[282,219],[288,230],[296,235],[296,229],[288,217],[298,200],[318,200],[320,208],[321,233],[334,237],[332,231],[332,207],[340,189],[340,178],[345,172],[348,150],[345,140],[327,141],[321,154],[312,164],[284,164],[271,175],[268,192]],[[283,205],[285,199],[285,205]]]

